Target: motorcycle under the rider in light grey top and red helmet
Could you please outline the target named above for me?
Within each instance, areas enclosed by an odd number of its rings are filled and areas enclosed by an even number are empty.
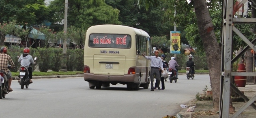
[[[18,56],[19,57],[19,56]],[[34,58],[34,60],[36,60],[37,57]],[[29,72],[28,72],[28,68],[26,66],[20,66],[19,69],[19,79],[20,79],[20,88],[24,89],[24,86],[26,88],[28,88],[29,84],[31,84],[29,82]]]

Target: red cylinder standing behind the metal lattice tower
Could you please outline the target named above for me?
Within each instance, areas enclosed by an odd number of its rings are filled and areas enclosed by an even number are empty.
[[[238,64],[237,72],[246,72],[244,64]],[[235,76],[235,84],[237,87],[245,87],[246,85],[246,76]]]

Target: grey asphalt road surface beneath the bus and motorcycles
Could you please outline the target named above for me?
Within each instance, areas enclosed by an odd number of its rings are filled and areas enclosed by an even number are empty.
[[[174,81],[173,81],[174,82]],[[82,77],[34,79],[29,88],[12,82],[13,92],[0,100],[0,116],[6,118],[162,118],[175,115],[186,104],[210,89],[209,75],[188,80],[179,75],[177,83],[165,82],[165,90],[140,88],[130,91],[126,85],[89,89]],[[161,87],[161,84],[160,84]],[[209,90],[208,89],[208,90]]]

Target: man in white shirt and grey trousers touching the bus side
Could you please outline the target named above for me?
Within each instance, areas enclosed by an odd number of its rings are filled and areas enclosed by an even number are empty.
[[[154,91],[154,75],[156,76],[156,81],[158,81],[157,83],[157,88],[158,90],[161,90],[159,87],[160,84],[160,73],[159,70],[162,70],[163,73],[163,62],[162,59],[160,57],[158,57],[159,51],[156,50],[155,51],[155,56],[145,56],[143,54],[143,57],[151,60],[150,66],[151,66],[151,71],[150,71],[150,80],[151,80],[151,91]]]

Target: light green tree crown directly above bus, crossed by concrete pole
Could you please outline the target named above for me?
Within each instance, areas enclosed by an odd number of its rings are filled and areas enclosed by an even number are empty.
[[[51,9],[52,22],[62,22],[65,0],[54,0],[48,6]],[[90,26],[100,24],[120,24],[119,10],[102,0],[71,0],[68,3],[68,26],[87,30]]]

